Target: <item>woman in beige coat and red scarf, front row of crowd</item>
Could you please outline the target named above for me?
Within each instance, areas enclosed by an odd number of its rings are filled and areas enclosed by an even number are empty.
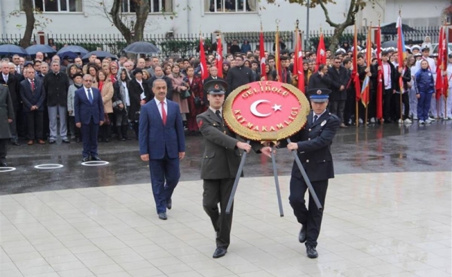
[[[102,94],[103,112],[105,115],[104,123],[99,130],[99,141],[109,143],[110,136],[112,135],[110,123],[113,120],[113,83],[110,78],[107,78],[107,76],[107,73],[105,73],[105,71],[103,70],[97,72],[98,89]]]

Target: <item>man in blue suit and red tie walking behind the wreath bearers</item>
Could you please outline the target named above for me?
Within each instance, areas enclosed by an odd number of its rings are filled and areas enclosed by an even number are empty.
[[[153,82],[154,98],[141,107],[139,151],[149,161],[150,182],[159,219],[166,220],[180,178],[179,161],[185,157],[185,136],[179,105],[166,99],[166,82]],[[166,182],[166,184],[165,184]]]

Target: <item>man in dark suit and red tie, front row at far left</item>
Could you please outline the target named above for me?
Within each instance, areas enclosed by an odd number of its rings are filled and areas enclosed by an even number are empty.
[[[24,102],[28,129],[28,145],[46,144],[42,134],[42,118],[44,117],[44,100],[46,92],[41,80],[35,78],[35,69],[27,69],[26,79],[20,82],[20,96]]]

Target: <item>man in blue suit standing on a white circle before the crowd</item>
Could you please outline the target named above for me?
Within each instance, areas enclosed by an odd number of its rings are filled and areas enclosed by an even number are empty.
[[[83,87],[76,90],[73,99],[73,111],[76,116],[76,126],[81,128],[83,152],[82,162],[102,161],[97,152],[97,134],[99,126],[103,125],[103,101],[101,91],[92,87],[92,75],[83,76]]]

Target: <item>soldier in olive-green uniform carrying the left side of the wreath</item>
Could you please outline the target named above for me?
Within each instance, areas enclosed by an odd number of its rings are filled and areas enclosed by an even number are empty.
[[[213,257],[220,258],[227,253],[230,242],[233,208],[229,214],[225,213],[225,210],[240,165],[241,154],[238,150],[250,152],[253,148],[254,151],[260,151],[268,157],[272,150],[258,142],[252,142],[250,145],[239,141],[236,134],[225,125],[223,102],[227,82],[211,80],[206,82],[204,87],[209,93],[207,96],[209,109],[196,117],[200,132],[205,137],[201,168],[201,179],[204,180],[202,206],[216,231],[216,250]],[[221,213],[218,211],[218,203]]]

